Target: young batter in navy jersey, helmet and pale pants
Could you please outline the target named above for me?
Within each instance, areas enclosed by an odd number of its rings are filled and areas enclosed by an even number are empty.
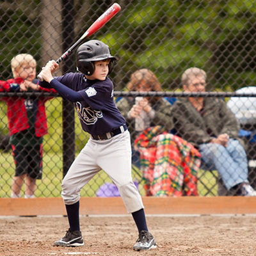
[[[90,139],[62,182],[63,201],[67,209],[70,227],[67,234],[56,241],[56,246],[83,246],[79,227],[79,193],[92,177],[104,170],[118,187],[128,212],[138,227],[139,238],[134,250],[156,248],[154,237],[148,232],[143,202],[131,177],[131,140],[125,119],[116,108],[113,83],[108,78],[116,57],[108,45],[90,40],[77,49],[77,70],[61,77],[52,77],[58,69],[55,61],[49,61],[42,69],[44,79],[40,86],[52,86],[65,99],[74,102],[77,115]]]

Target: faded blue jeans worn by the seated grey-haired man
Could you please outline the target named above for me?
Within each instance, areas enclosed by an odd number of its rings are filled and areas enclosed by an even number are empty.
[[[238,140],[229,139],[227,147],[217,143],[200,145],[202,167],[218,170],[227,189],[248,182],[248,160],[243,145]]]

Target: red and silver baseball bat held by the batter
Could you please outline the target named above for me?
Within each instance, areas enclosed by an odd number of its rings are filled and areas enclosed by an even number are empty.
[[[112,4],[108,8],[108,10],[106,10],[106,12],[102,13],[102,15],[100,15],[100,17],[97,20],[95,20],[95,22],[93,22],[93,24],[90,26],[90,28],[88,28],[85,31],[85,33],[67,51],[65,51],[60,56],[60,58],[58,58],[58,60],[56,60],[56,63],[59,64],[59,63],[61,63],[61,61],[65,60],[65,58],[67,58],[67,56],[70,55],[70,52],[72,52],[77,47],[77,45],[84,42],[84,40],[86,38],[93,35],[96,31],[98,31],[100,28],[102,28],[102,26],[104,26],[104,24],[106,24],[120,10],[121,10],[121,6],[118,3]],[[44,80],[43,77],[40,75],[40,73],[38,74],[37,78],[40,81]]]

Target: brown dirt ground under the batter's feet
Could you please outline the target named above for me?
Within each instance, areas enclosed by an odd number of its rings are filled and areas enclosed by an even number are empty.
[[[84,246],[52,246],[65,235],[63,216],[0,217],[0,255],[4,256],[245,256],[256,255],[256,216],[147,216],[157,248],[135,252],[135,224],[125,216],[81,216]]]

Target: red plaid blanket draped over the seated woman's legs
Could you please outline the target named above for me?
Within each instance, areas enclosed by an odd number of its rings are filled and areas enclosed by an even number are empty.
[[[200,153],[188,141],[149,127],[135,140],[147,196],[197,196]]]

